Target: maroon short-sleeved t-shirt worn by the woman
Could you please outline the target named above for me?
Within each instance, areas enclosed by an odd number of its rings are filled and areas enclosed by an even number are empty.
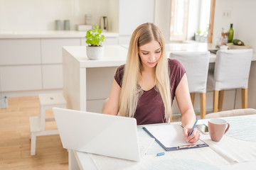
[[[170,60],[169,63],[169,77],[170,77],[170,91],[171,103],[174,101],[176,88],[185,74],[185,69],[178,60]],[[124,75],[124,65],[117,68],[114,79],[122,88],[122,77]],[[146,125],[154,123],[164,123],[164,103],[161,96],[154,86],[149,91],[143,91],[140,96],[134,118],[137,120],[137,125]]]

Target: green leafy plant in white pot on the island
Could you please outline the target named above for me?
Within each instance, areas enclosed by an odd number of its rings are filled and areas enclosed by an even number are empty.
[[[94,25],[92,30],[87,30],[86,33],[86,54],[91,60],[98,60],[103,57],[104,47],[102,42],[105,40],[105,36],[101,34],[102,30],[98,25]]]

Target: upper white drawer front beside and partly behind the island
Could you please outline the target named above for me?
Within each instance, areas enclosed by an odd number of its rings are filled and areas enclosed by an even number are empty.
[[[79,45],[80,38],[41,39],[42,64],[62,63],[62,47]]]

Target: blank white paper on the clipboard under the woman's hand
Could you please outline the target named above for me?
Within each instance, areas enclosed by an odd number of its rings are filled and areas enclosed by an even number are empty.
[[[146,125],[146,130],[149,130],[151,135],[156,137],[164,147],[178,147],[182,145],[191,145],[185,141],[183,128],[181,125],[162,124],[162,125]],[[194,145],[202,145],[204,142],[199,140]]]

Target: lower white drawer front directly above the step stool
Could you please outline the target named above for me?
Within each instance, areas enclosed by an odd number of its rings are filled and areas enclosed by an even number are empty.
[[[63,88],[63,66],[62,64],[49,64],[42,66],[43,89]]]

